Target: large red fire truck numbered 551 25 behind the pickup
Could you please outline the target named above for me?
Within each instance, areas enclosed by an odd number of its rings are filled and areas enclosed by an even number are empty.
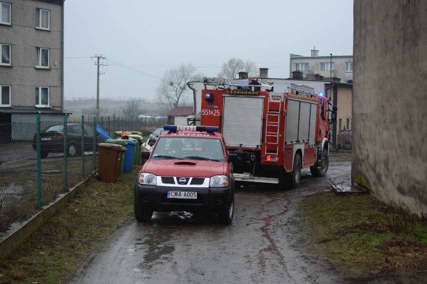
[[[220,127],[229,152],[238,157],[236,180],[297,188],[301,168],[310,167],[314,176],[326,174],[329,127],[337,111],[329,109],[327,97],[305,85],[263,79],[203,81],[201,125]]]

